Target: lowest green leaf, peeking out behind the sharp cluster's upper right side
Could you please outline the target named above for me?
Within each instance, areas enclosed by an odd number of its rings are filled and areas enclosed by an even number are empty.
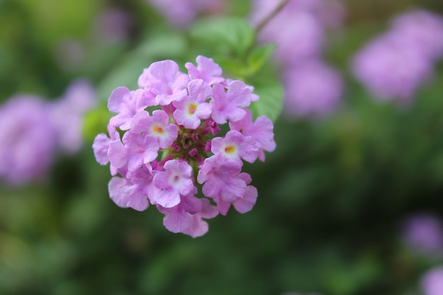
[[[270,80],[256,83],[254,86],[255,94],[260,99],[251,104],[253,117],[265,115],[275,122],[280,115],[283,103],[283,88],[279,81]]]

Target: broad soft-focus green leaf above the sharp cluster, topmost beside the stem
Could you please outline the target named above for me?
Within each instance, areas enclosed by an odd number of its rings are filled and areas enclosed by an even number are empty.
[[[222,48],[242,57],[255,40],[255,30],[243,18],[207,18],[190,30],[191,37]]]

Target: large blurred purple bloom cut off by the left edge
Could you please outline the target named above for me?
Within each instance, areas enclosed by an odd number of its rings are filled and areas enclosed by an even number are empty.
[[[0,106],[0,178],[24,185],[45,178],[56,134],[45,100],[17,95]]]

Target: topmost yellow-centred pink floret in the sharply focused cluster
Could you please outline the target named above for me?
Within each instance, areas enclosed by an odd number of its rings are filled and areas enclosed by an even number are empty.
[[[192,80],[188,83],[188,93],[188,96],[174,101],[173,105],[177,109],[173,116],[179,125],[197,129],[200,120],[211,115],[211,106],[206,100],[212,97],[212,88],[203,80]]]

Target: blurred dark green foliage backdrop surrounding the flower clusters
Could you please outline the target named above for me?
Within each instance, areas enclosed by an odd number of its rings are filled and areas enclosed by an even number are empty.
[[[0,108],[18,93],[57,102],[76,79],[96,93],[79,112],[81,149],[54,150],[36,180],[1,181],[0,294],[442,295],[442,274],[433,290],[424,278],[443,265],[443,51],[406,103],[377,98],[352,60],[394,17],[416,8],[443,17],[443,3],[339,2],[321,42],[322,61],[342,83],[323,91],[338,93],[333,108],[283,111],[277,149],[246,166],[258,188],[253,210],[231,209],[190,238],[168,232],[154,208],[117,207],[109,168],[91,149],[113,88],[135,88],[157,60],[221,59],[226,52],[192,43],[192,23],[208,14],[249,21],[258,1],[193,1],[187,18],[173,14],[179,2],[0,0]],[[282,78],[287,103],[293,81],[284,83],[283,65],[272,57],[263,71]]]

